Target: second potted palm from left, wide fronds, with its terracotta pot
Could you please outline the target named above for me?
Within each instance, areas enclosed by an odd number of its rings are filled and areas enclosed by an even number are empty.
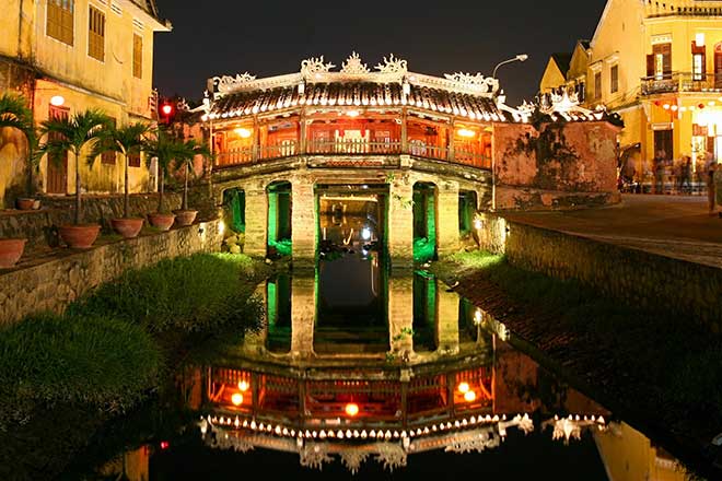
[[[68,118],[50,119],[43,122],[42,136],[48,136],[45,144],[40,145],[40,152],[48,154],[48,159],[58,159],[66,152],[72,153],[75,160],[75,210],[73,223],[60,225],[58,233],[60,238],[72,248],[89,248],[93,245],[101,232],[100,224],[81,224],[82,219],[82,177],[80,164],[82,160],[92,159],[86,152],[92,153],[95,143],[101,138],[101,132],[109,128],[109,117],[101,110],[89,109],[80,112]],[[49,136],[55,133],[55,136]]]

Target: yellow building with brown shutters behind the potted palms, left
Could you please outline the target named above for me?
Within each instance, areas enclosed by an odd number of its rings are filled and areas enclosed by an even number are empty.
[[[154,0],[4,0],[0,16],[0,92],[22,93],[36,122],[100,108],[117,125],[152,120],[153,35],[168,32]],[[24,146],[3,132],[0,199],[5,207],[24,185]],[[130,190],[149,188],[139,159],[130,168]],[[73,193],[74,163],[40,162],[38,187]],[[120,159],[103,155],[86,167],[89,192],[123,190]]]

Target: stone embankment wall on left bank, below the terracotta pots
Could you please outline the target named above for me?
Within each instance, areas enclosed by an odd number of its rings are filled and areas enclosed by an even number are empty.
[[[219,227],[219,221],[201,222],[0,273],[0,325],[33,313],[59,313],[70,302],[128,269],[217,251],[223,241]]]

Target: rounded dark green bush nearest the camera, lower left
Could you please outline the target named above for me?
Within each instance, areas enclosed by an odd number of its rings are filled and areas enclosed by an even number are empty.
[[[0,425],[36,407],[121,411],[153,387],[162,359],[151,337],[107,317],[38,315],[0,330]]]

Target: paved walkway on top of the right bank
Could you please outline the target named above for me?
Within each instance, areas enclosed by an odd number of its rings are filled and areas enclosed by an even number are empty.
[[[624,195],[620,204],[608,208],[502,215],[722,269],[722,219],[708,214],[702,197]]]

